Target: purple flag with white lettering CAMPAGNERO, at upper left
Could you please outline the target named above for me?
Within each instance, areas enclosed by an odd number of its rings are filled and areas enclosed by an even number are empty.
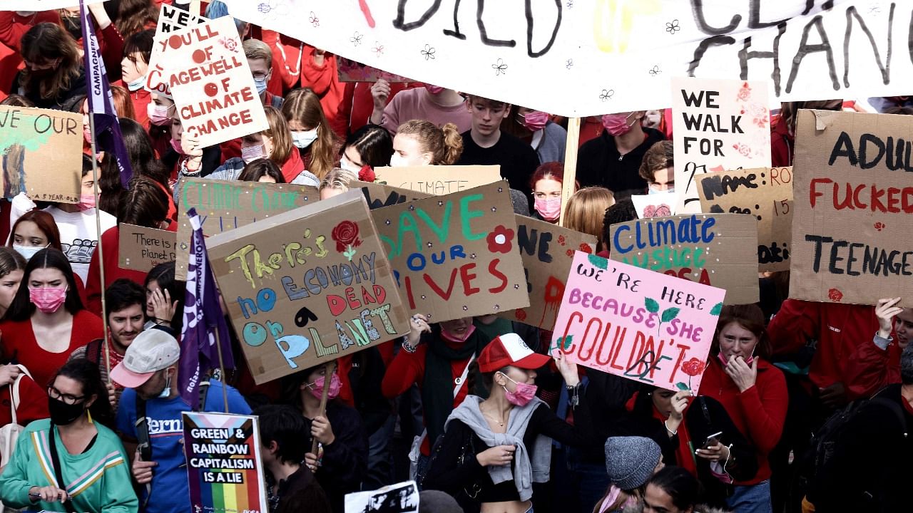
[[[121,123],[114,110],[114,99],[108,84],[108,71],[101,59],[99,40],[95,37],[95,23],[84,0],[79,0],[79,16],[82,18],[82,51],[85,54],[83,67],[86,68],[86,89],[89,99],[89,114],[95,120],[95,141],[101,150],[114,156],[121,172],[121,185],[126,189],[133,177],[130,156],[123,145]]]

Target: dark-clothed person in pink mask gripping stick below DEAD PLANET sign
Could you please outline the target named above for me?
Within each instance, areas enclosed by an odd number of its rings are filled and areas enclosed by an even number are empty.
[[[361,489],[367,469],[368,435],[361,415],[336,399],[341,388],[339,376],[333,372],[328,383],[326,370],[326,365],[321,364],[292,374],[283,380],[283,391],[310,428],[310,436],[304,438],[309,449],[304,463],[330,497],[333,511],[341,513],[345,494]],[[330,390],[326,410],[321,412],[324,387]],[[314,441],[319,444],[316,455],[310,452]]]

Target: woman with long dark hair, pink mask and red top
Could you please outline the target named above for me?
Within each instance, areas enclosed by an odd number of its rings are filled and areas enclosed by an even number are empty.
[[[3,356],[48,383],[69,353],[102,336],[101,319],[84,309],[67,257],[48,247],[29,259],[13,304],[6,311]]]

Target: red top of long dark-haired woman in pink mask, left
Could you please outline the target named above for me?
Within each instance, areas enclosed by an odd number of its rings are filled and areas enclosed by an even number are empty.
[[[3,358],[25,365],[35,382],[41,383],[41,386],[47,386],[54,373],[67,362],[69,353],[102,337],[101,319],[85,309],[73,316],[69,347],[65,351],[49,352],[41,349],[35,340],[32,319],[0,322],[0,332],[3,333]]]

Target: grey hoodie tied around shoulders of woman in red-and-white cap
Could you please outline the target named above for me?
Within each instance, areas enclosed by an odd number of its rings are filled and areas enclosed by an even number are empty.
[[[488,466],[488,476],[491,476],[491,481],[496,485],[513,479],[519,499],[530,500],[532,483],[546,483],[549,480],[551,439],[544,434],[537,436],[530,454],[526,445],[523,445],[523,434],[526,434],[532,412],[545,403],[538,397],[534,397],[526,406],[514,406],[510,410],[507,433],[494,433],[488,427],[485,415],[478,409],[478,404],[482,401],[482,398],[477,395],[467,395],[466,400],[447,417],[444,430],[446,431],[446,425],[450,424],[450,421],[458,420],[472,429],[488,447],[495,445],[517,447],[513,466]]]

